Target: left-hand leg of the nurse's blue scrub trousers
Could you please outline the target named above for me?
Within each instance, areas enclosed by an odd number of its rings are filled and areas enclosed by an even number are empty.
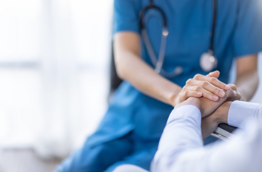
[[[97,146],[84,145],[69,158],[63,160],[57,172],[99,172],[126,157],[132,152],[132,135],[106,142]]]

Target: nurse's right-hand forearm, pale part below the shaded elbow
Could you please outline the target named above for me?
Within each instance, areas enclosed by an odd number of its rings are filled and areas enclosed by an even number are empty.
[[[258,88],[258,72],[250,71],[237,76],[236,87],[241,94],[242,101],[249,101]]]

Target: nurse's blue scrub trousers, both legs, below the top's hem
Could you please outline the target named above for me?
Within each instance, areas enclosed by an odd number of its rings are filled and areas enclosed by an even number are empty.
[[[93,147],[85,144],[65,159],[56,172],[110,172],[122,164],[133,164],[149,170],[157,145],[158,140],[145,141],[134,137],[133,132]]]

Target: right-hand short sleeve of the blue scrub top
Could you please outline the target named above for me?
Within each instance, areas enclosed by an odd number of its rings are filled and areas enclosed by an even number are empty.
[[[236,29],[233,36],[234,56],[262,51],[262,1],[238,0]]]

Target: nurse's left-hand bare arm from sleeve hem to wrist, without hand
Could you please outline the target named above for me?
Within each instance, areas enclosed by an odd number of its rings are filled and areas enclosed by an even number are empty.
[[[174,99],[182,88],[157,74],[140,58],[139,36],[134,33],[118,33],[114,40],[118,76],[127,80],[142,93],[174,106]]]

